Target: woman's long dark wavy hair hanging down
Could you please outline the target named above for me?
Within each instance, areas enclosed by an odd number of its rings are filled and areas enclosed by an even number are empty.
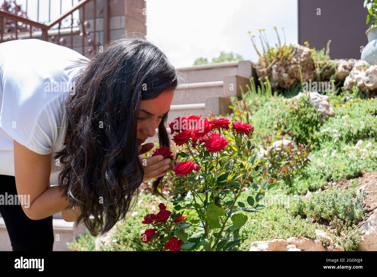
[[[55,155],[62,195],[82,214],[90,233],[107,233],[135,204],[144,171],[138,156],[140,101],[154,99],[178,85],[178,72],[153,43],[141,38],[111,41],[93,54],[64,102],[67,144]],[[143,90],[143,88],[147,88]],[[158,126],[160,146],[170,146],[167,115]],[[159,193],[162,177],[153,182]]]

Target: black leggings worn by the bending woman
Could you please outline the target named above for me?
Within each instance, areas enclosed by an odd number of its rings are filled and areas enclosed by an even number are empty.
[[[17,195],[14,176],[0,175],[0,195],[5,199],[5,193]],[[18,201],[17,203],[18,204]],[[3,205],[0,202],[0,214],[11,239],[13,251],[52,251],[54,245],[54,230],[52,216],[32,220],[26,216],[20,204]]]

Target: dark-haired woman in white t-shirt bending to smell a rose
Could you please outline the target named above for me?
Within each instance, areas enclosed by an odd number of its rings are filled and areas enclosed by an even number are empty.
[[[166,55],[138,38],[112,41],[90,60],[37,39],[0,44],[0,195],[20,199],[0,201],[0,213],[13,251],[51,251],[53,214],[103,234],[143,181],[156,179],[158,192],[170,159],[138,155],[154,147],[143,142],[156,128],[160,146],[170,145],[177,83]]]

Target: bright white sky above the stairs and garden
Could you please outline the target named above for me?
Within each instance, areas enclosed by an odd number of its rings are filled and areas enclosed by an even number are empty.
[[[49,1],[39,1],[39,21],[48,21]],[[74,5],[77,2],[73,0]],[[25,7],[26,0],[17,3]],[[36,6],[37,0],[28,0],[28,15],[33,20],[37,19]],[[71,6],[72,0],[62,1],[63,12]],[[297,0],[147,0],[146,7],[146,38],[159,46],[175,67],[192,66],[199,57],[210,62],[220,51],[257,61],[247,32],[257,35],[262,51],[258,29],[266,30],[270,45],[277,43],[274,26],[282,41],[284,27],[287,43],[297,43]],[[59,11],[60,1],[51,0],[51,20]]]

